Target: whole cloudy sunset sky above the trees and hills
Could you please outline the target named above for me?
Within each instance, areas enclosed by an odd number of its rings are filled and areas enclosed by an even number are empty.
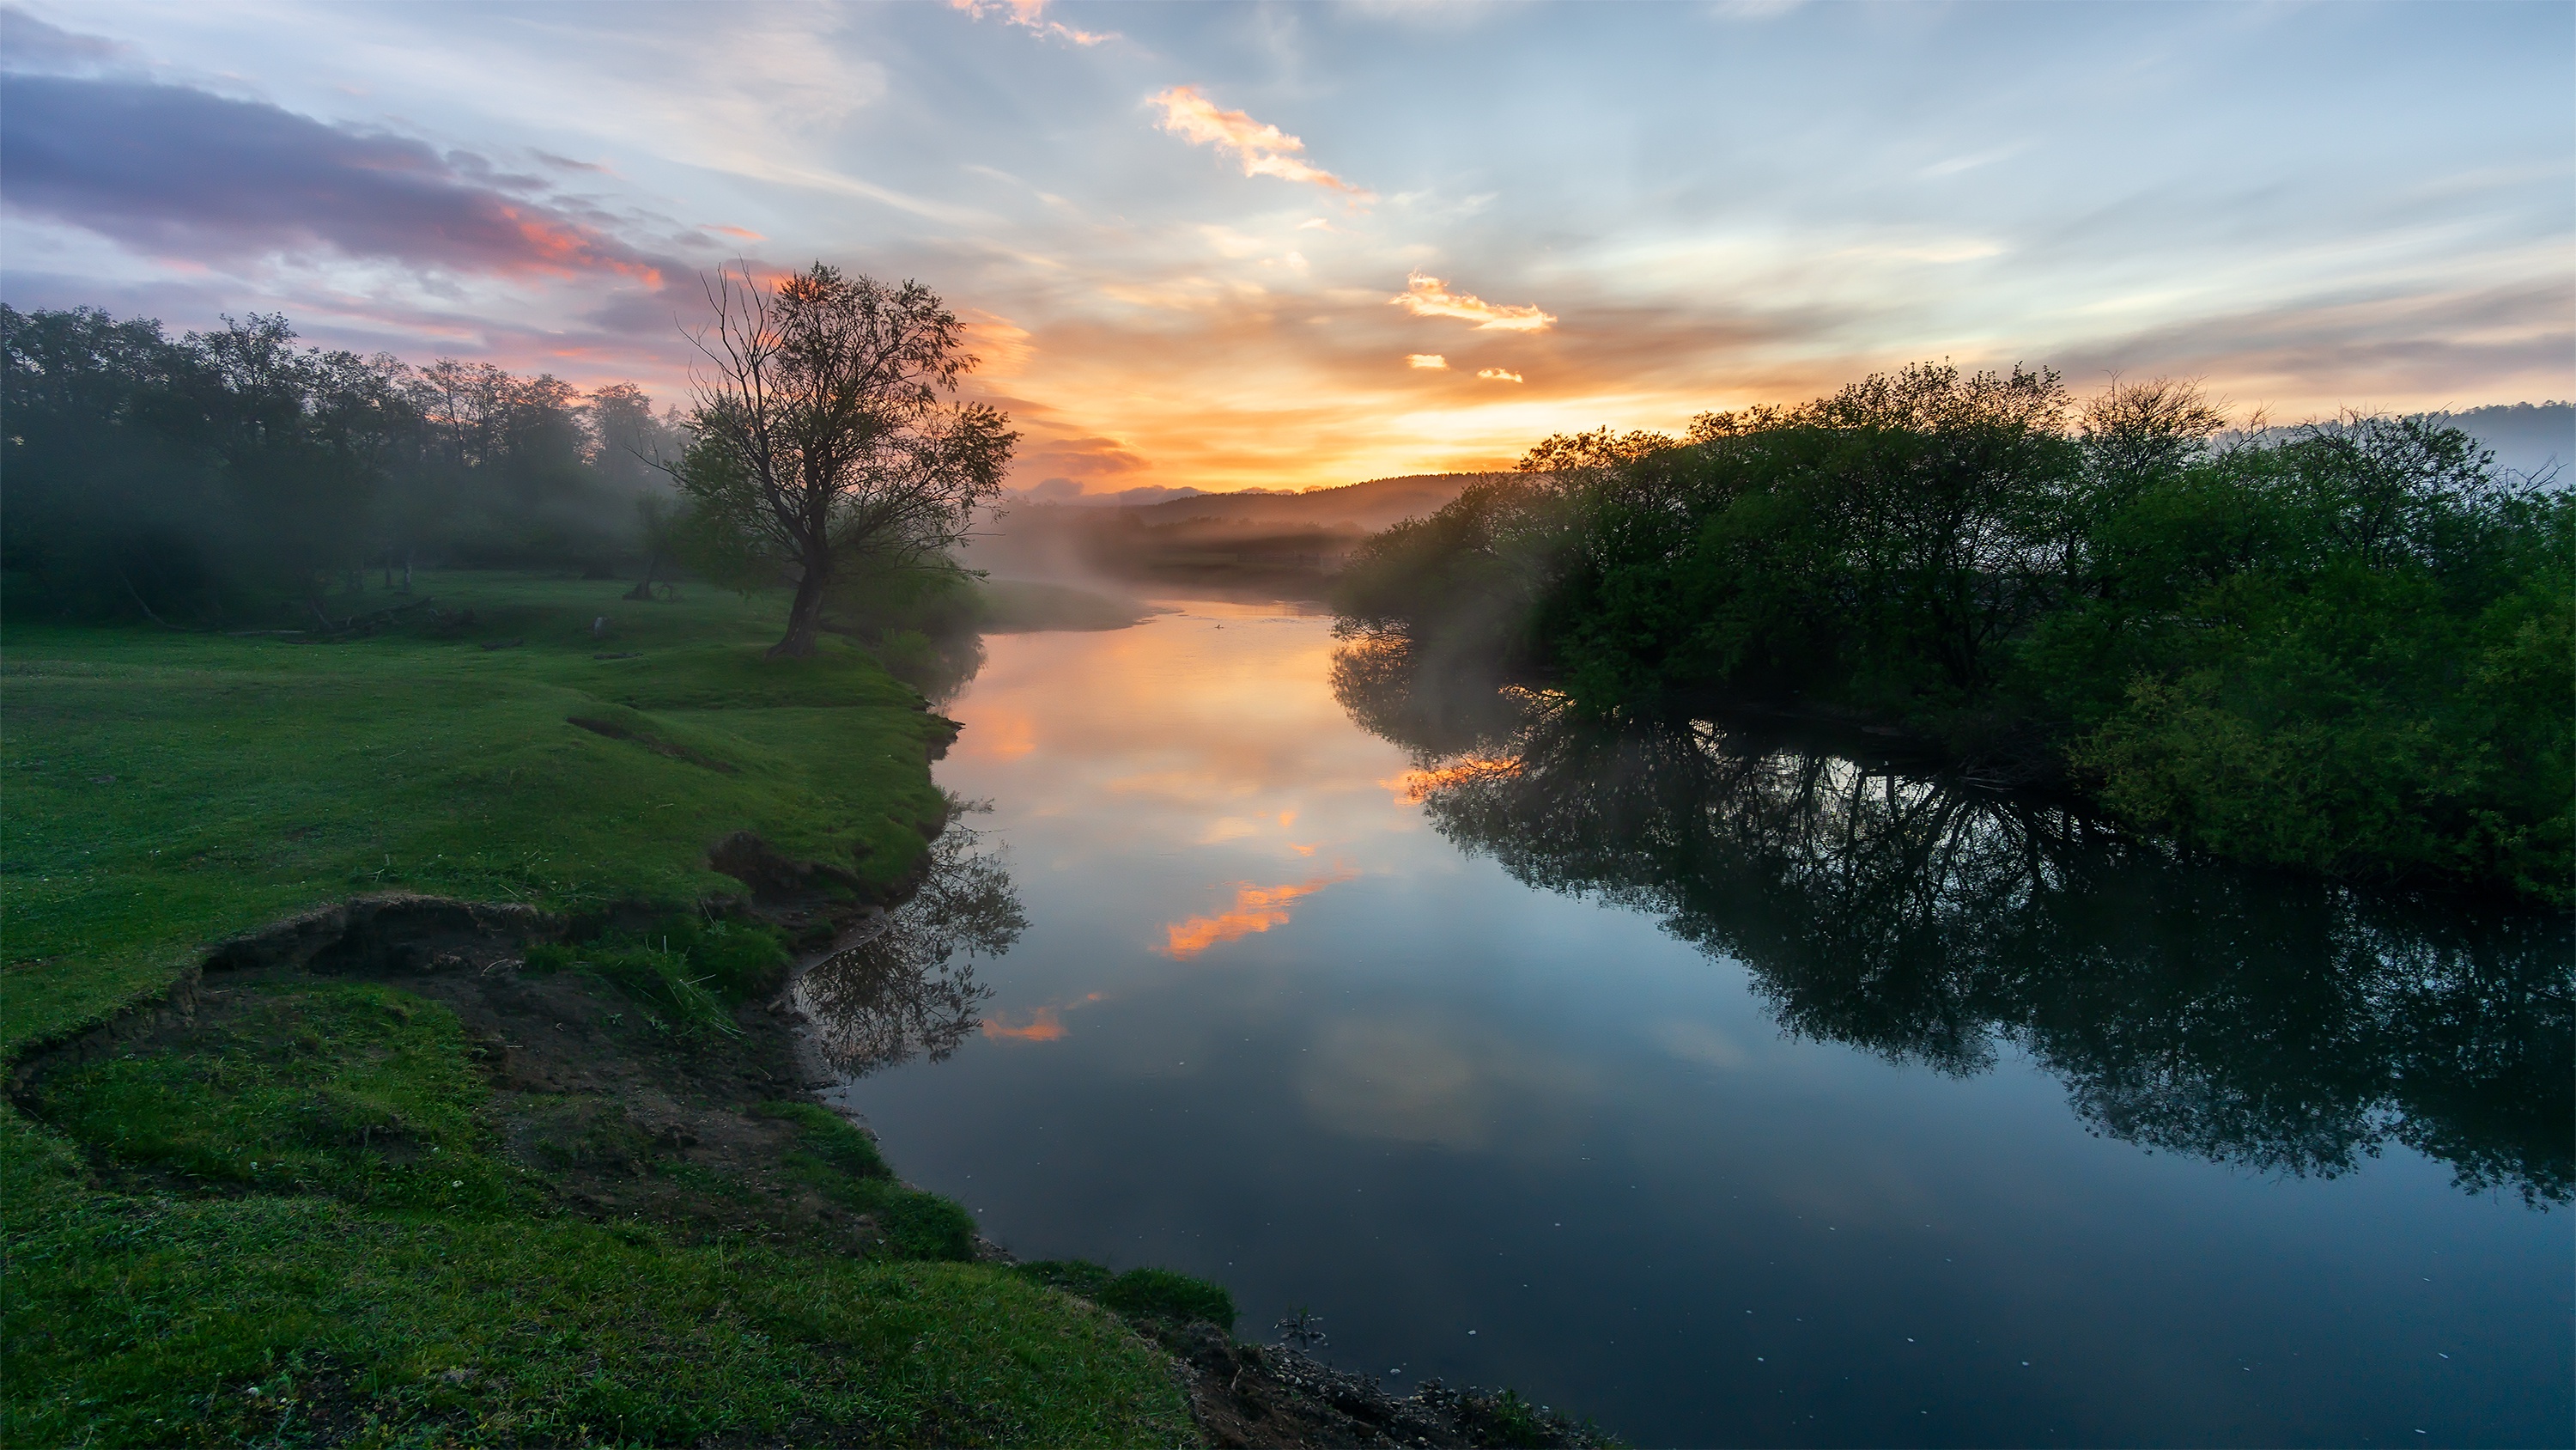
[[[1947,358],[2576,397],[2576,5],[0,8],[0,299],[639,381],[930,283],[1012,484],[1316,487]]]

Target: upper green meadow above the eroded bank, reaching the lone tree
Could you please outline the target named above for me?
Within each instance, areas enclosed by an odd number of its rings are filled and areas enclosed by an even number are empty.
[[[943,809],[912,688],[837,639],[762,659],[773,603],[489,574],[420,587],[477,628],[296,644],[8,626],[0,1046],[75,1030],[167,986],[209,940],[358,891],[688,904],[739,891],[706,865],[734,829],[886,883]],[[505,639],[526,644],[479,646]]]

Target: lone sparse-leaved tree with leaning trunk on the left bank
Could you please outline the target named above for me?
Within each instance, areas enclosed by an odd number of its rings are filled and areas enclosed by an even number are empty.
[[[966,538],[1020,435],[999,410],[943,397],[976,358],[922,283],[814,263],[765,286],[737,265],[706,296],[716,319],[690,340],[708,366],[672,476],[701,536],[796,579],[770,654],[814,654],[832,577],[920,567]]]

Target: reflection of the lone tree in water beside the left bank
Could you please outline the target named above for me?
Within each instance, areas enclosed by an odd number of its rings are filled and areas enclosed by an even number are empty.
[[[956,804],[951,816],[984,806]],[[824,1061],[866,1077],[914,1056],[940,1061],[981,1020],[992,989],[981,956],[1002,956],[1028,930],[1020,894],[981,832],[951,824],[930,845],[922,889],[886,912],[881,930],[814,963],[793,1002],[814,1025]]]

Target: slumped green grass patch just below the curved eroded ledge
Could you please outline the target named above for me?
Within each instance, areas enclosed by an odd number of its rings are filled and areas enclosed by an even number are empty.
[[[453,1012],[371,984],[240,992],[250,1007],[219,1030],[54,1071],[33,1107],[90,1151],[193,1187],[523,1205]]]

